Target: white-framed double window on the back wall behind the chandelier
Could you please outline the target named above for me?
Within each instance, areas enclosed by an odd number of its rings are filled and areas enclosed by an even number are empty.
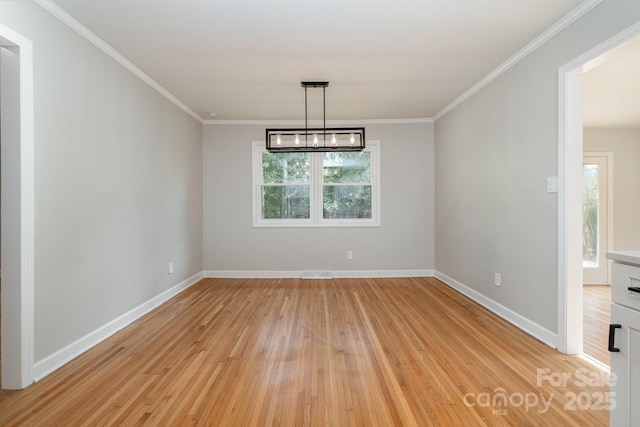
[[[254,227],[380,225],[376,141],[361,152],[269,153],[253,144]]]

